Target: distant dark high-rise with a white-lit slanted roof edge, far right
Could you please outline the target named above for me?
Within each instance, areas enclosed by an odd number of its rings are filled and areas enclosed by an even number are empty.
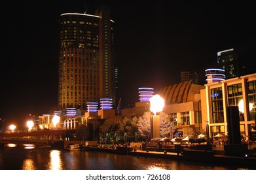
[[[225,79],[241,76],[238,54],[233,48],[217,52],[217,65],[219,69],[225,70]]]

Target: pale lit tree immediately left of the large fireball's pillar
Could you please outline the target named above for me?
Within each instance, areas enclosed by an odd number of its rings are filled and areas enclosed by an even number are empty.
[[[139,135],[143,139],[151,139],[151,112],[145,112],[137,121]]]

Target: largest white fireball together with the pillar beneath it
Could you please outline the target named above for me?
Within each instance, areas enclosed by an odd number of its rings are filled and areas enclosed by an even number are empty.
[[[156,112],[161,112],[164,108],[164,99],[160,97],[160,95],[153,95],[149,99],[150,101],[150,110],[154,113],[153,120],[151,122],[151,133],[152,138],[158,138],[160,137],[160,119],[159,115],[156,115]]]

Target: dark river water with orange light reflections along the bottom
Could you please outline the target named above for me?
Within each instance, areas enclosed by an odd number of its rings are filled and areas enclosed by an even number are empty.
[[[174,159],[145,158],[107,152],[56,150],[12,144],[0,149],[1,170],[235,170]]]

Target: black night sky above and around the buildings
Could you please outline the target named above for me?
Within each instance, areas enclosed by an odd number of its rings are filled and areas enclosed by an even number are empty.
[[[138,101],[139,87],[180,82],[181,71],[217,67],[217,52],[234,48],[255,62],[253,1],[1,1],[0,118],[58,107],[58,20],[65,12],[88,14],[101,3],[115,21],[115,60],[124,105]],[[253,49],[254,48],[254,49]]]

